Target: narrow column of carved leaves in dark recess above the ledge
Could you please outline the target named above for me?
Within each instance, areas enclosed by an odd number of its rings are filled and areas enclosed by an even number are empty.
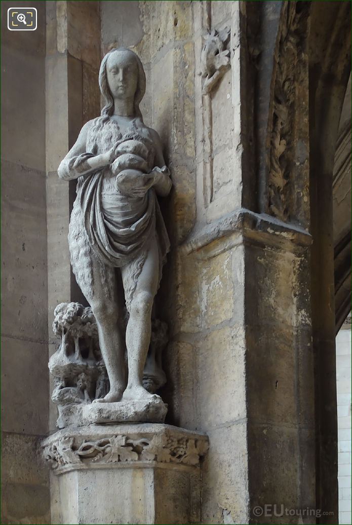
[[[273,93],[273,121],[269,159],[269,212],[286,221],[294,215],[292,183],[297,157],[296,118],[300,111],[297,85],[306,75],[306,32],[308,2],[286,2],[276,47],[276,76]],[[297,113],[297,114],[296,114]],[[302,118],[302,117],[301,117]]]

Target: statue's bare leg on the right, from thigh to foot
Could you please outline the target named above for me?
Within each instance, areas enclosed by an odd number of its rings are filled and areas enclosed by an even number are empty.
[[[121,269],[123,282],[130,266]],[[123,400],[148,400],[159,398],[143,387],[143,370],[151,341],[151,316],[159,276],[159,253],[155,236],[144,262],[130,305],[130,319],[126,329],[126,348],[129,380]]]

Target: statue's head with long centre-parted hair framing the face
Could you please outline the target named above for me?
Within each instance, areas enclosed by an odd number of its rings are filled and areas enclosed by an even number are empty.
[[[114,48],[100,66],[99,86],[106,104],[101,114],[110,116],[114,98],[134,98],[134,113],[141,117],[140,102],[145,93],[145,73],[140,58],[130,49]]]

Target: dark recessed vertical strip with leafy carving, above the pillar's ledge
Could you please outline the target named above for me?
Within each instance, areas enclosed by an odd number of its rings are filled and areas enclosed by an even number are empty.
[[[300,199],[308,198],[308,2],[284,2],[275,50],[269,154],[269,213],[306,225]],[[308,117],[308,116],[307,116]]]

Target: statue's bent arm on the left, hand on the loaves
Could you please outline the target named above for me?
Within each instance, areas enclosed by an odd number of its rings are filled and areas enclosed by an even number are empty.
[[[93,155],[86,152],[87,135],[92,125],[92,120],[84,124],[76,143],[72,146],[65,159],[60,162],[58,175],[64,181],[71,181],[81,175],[89,175],[94,171],[112,162],[112,152]]]

